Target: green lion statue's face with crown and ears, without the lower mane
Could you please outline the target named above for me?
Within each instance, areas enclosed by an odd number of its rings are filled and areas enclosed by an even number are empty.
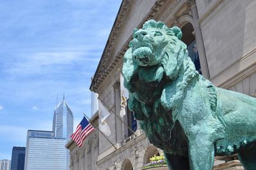
[[[171,43],[177,42],[177,38],[180,39],[181,36],[179,27],[168,28],[163,22],[149,20],[142,29],[133,31],[133,40],[129,43],[132,58],[140,66],[158,65],[163,61]]]

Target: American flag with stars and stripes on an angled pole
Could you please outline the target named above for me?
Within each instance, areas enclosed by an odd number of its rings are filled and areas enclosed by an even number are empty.
[[[76,132],[71,135],[71,139],[80,147],[83,144],[83,140],[87,137],[90,132],[95,130],[92,125],[84,117],[76,128]]]

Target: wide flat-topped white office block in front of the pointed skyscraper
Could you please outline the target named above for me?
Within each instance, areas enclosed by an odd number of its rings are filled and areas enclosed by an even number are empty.
[[[66,170],[66,143],[65,138],[55,137],[52,131],[28,130],[25,170]]]

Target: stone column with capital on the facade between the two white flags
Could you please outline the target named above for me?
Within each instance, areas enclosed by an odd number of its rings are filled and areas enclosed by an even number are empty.
[[[121,91],[120,91],[120,82],[115,82],[113,84],[115,90],[115,112],[116,116],[120,118],[120,109],[121,109]],[[116,129],[116,143],[123,141],[122,135],[122,122],[115,116],[115,129]]]

